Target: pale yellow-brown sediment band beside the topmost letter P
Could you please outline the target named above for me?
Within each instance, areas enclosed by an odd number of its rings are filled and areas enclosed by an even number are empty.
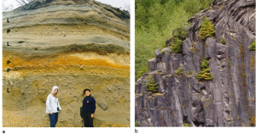
[[[58,28],[58,29],[55,29]],[[127,32],[128,30],[121,29],[122,31]],[[3,29],[3,35],[6,33],[7,29]],[[96,25],[64,25],[64,24],[48,24],[48,25],[30,25],[30,26],[21,26],[13,27],[12,33],[16,32],[22,33],[24,36],[63,36],[65,33],[66,36],[75,35],[75,36],[88,36],[88,35],[110,35],[118,37],[124,41],[130,41],[130,36],[125,35],[116,31],[111,31],[106,28],[102,28]],[[129,32],[129,31],[128,31]]]

